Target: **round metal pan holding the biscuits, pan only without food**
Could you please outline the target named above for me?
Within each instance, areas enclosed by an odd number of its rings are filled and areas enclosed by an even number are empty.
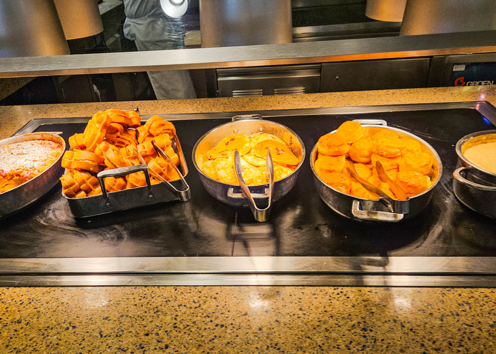
[[[402,129],[387,126],[385,120],[356,119],[355,121],[358,121],[364,127],[371,127],[372,131],[375,129],[390,129],[394,130],[400,137],[408,136],[418,140],[422,144],[422,150],[430,153],[435,158],[433,170],[431,172],[431,179],[434,180],[434,182],[428,190],[410,197],[407,200],[393,199],[391,208],[388,209],[377,200],[359,198],[340,192],[320,179],[314,169],[314,163],[317,158],[317,144],[315,144],[310,154],[310,168],[313,172],[313,181],[320,198],[336,213],[358,221],[398,222],[410,219],[419,214],[431,201],[434,187],[437,185],[442,175],[442,163],[437,152],[428,142],[419,138],[417,135]],[[334,133],[336,130],[332,132]]]

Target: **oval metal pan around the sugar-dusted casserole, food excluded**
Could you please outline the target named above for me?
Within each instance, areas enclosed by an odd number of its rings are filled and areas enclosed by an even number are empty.
[[[52,189],[62,174],[61,160],[65,151],[65,141],[52,132],[36,132],[11,136],[0,141],[0,145],[14,144],[28,140],[50,140],[62,145],[57,160],[36,177],[0,194],[0,218],[10,215],[42,197]]]

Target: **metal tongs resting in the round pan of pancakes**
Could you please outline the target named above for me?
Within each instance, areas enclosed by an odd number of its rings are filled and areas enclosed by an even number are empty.
[[[256,206],[255,201],[249,191],[245,179],[243,179],[243,168],[241,167],[241,157],[238,149],[234,151],[234,171],[238,180],[240,182],[241,193],[246,198],[248,206],[253,214],[256,221],[267,221],[270,215],[270,208],[272,207],[272,192],[274,190],[274,166],[272,164],[272,156],[270,156],[270,151],[267,151],[267,161],[265,163],[265,171],[267,172],[267,182],[269,183],[268,194],[267,194],[267,206],[260,209]]]

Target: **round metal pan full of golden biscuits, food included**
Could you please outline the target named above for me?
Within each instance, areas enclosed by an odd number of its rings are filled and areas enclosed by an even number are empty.
[[[382,119],[345,121],[321,136],[311,151],[310,168],[320,198],[332,210],[370,222],[398,222],[419,214],[442,175],[439,155],[429,143]]]

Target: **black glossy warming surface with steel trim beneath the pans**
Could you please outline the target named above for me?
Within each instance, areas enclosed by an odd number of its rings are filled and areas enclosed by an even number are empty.
[[[303,139],[307,157],[294,189],[258,223],[203,188],[191,161],[198,138],[236,113],[162,115],[173,120],[186,156],[192,198],[75,219],[57,185],[0,220],[0,285],[327,284],[491,286],[496,221],[453,194],[454,145],[495,129],[486,102],[260,111]],[[146,117],[144,117],[146,118]],[[428,141],[443,176],[424,212],[399,223],[363,224],[317,195],[310,150],[343,121],[380,118]],[[81,132],[88,118],[33,119],[17,134]]]

